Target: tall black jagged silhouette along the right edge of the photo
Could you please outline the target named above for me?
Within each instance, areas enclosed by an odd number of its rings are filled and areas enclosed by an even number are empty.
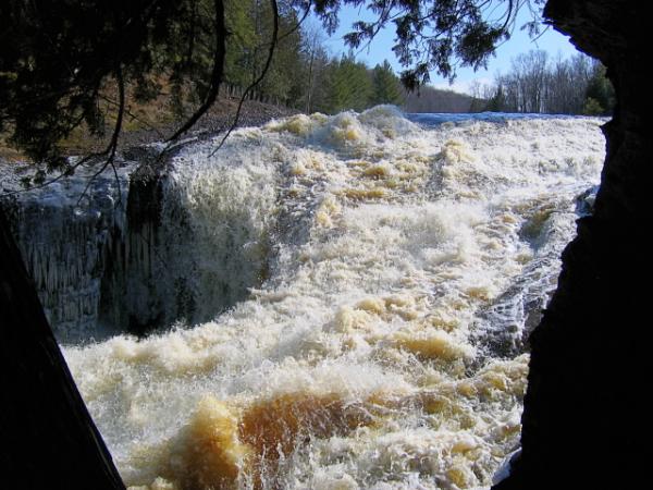
[[[641,387],[650,320],[644,238],[651,139],[640,100],[648,17],[626,0],[550,0],[545,15],[608,69],[617,96],[594,213],[578,221],[558,289],[531,335],[522,454],[496,489],[644,481]],[[641,485],[641,483],[639,483]]]

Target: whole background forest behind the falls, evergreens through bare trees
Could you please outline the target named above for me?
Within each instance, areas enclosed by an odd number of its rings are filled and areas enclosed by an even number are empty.
[[[239,97],[251,87],[247,94],[249,99],[329,114],[393,103],[406,112],[597,115],[608,113],[614,103],[612,87],[600,63],[580,53],[569,60],[552,60],[544,51],[517,57],[509,72],[497,74],[490,86],[473,86],[471,95],[428,85],[408,91],[402,85],[401,74],[396,74],[387,61],[369,66],[357,59],[354,51],[333,56],[326,48],[323,30],[300,17],[291,1],[280,1],[279,9],[279,40],[272,61],[267,65],[270,39],[274,36],[270,3],[261,0],[225,2],[227,28],[232,33],[227,38],[224,73],[229,95]],[[201,9],[199,12],[201,16]],[[210,61],[208,57],[199,57],[193,63],[200,72],[209,69]],[[263,77],[262,72],[266,72]],[[187,115],[184,108],[197,102],[193,99],[202,95],[202,87],[194,86],[194,79],[172,77],[169,81],[171,108],[180,118]],[[161,89],[156,81],[148,84],[150,90]]]

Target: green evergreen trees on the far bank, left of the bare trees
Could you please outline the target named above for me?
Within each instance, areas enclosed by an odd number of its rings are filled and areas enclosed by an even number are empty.
[[[200,1],[199,9],[206,2]],[[306,112],[335,113],[402,103],[402,84],[387,61],[369,68],[353,52],[340,58],[330,56],[322,30],[305,25],[293,0],[276,3],[278,11],[273,12],[266,0],[225,2],[230,33],[223,75],[226,94]],[[210,9],[204,12],[208,15]],[[268,62],[273,39],[273,56]],[[210,61],[206,57],[198,64],[208,66]],[[205,91],[195,77],[173,78],[171,88],[172,108],[180,119],[188,115],[184,108],[197,105]]]

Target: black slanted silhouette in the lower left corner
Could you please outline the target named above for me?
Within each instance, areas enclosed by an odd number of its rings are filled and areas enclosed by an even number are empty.
[[[124,489],[0,208],[0,474],[16,489]]]

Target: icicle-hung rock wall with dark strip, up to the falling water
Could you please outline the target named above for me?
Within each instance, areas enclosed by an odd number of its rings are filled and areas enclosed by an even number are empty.
[[[143,334],[194,318],[186,275],[195,266],[177,254],[193,232],[178,189],[168,170],[138,157],[144,163],[125,163],[119,181],[90,181],[82,169],[62,185],[0,203],[60,342]],[[162,225],[163,208],[174,215],[174,233]]]

